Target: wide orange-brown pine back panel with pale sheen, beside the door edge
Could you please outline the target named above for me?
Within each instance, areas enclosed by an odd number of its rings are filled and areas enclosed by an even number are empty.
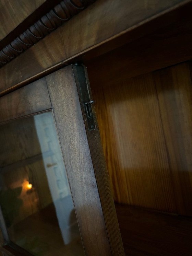
[[[152,73],[100,90],[93,96],[115,201],[176,212]]]

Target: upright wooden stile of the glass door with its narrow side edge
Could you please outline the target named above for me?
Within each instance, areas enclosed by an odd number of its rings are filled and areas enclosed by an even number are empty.
[[[86,132],[74,68],[58,70],[46,81],[85,253],[123,256],[98,128]]]

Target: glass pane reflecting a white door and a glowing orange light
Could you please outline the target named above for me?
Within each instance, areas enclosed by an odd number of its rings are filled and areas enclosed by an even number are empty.
[[[33,255],[84,255],[51,111],[0,126],[0,204],[12,242]]]

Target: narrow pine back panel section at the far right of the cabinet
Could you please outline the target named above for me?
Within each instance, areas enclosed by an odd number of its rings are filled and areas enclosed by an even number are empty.
[[[192,82],[190,62],[154,73],[177,212],[192,216]]]

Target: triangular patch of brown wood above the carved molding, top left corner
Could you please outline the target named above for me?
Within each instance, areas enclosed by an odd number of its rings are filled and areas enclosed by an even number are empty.
[[[45,0],[1,0],[0,1],[0,40],[34,12]]]

